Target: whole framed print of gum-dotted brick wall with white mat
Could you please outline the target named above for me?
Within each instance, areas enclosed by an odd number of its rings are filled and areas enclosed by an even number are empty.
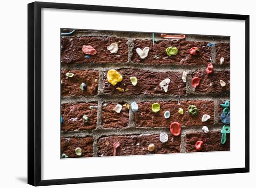
[[[28,4],[29,184],[242,172],[248,15]]]

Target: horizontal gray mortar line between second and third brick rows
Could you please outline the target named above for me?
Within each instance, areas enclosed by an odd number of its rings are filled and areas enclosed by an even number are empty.
[[[61,104],[73,104],[73,103],[79,103],[79,102],[97,102],[101,100],[101,102],[128,102],[129,105],[131,102],[155,102],[155,101],[178,101],[179,96],[173,96],[173,95],[154,95],[154,96],[148,96],[148,95],[135,95],[135,96],[113,96],[110,95],[104,95],[104,96],[91,96],[88,97],[61,97]],[[214,95],[208,95],[208,96],[200,96],[200,95],[187,95],[187,96],[181,96],[180,101],[186,101],[186,100],[229,100],[229,96],[214,96]]]

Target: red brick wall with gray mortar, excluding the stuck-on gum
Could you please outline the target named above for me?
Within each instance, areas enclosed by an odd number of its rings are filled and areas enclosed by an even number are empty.
[[[68,31],[68,30],[62,30]],[[111,54],[107,46],[118,42],[118,52]],[[207,46],[215,43],[215,46]],[[95,55],[85,57],[82,45],[91,45]],[[136,48],[150,48],[148,56],[141,59]],[[167,56],[165,49],[175,46],[177,55]],[[198,55],[189,54],[191,47],[198,47]],[[220,65],[220,58],[224,63]],[[208,63],[213,63],[214,72],[206,73]],[[81,31],[72,36],[61,37],[61,154],[68,157],[113,156],[113,144],[118,141],[117,156],[161,153],[195,152],[195,143],[204,142],[201,151],[229,150],[229,135],[226,144],[221,144],[222,122],[220,103],[229,100],[229,38],[193,36],[187,38],[163,39],[152,33]],[[107,80],[109,69],[116,69],[123,81],[112,86]],[[188,72],[187,82],[182,81],[183,71]],[[67,77],[66,73],[73,73]],[[130,77],[135,76],[138,84],[133,86]],[[192,88],[191,80],[199,77],[200,85]],[[159,88],[159,83],[169,78],[168,92]],[[221,87],[219,80],[226,82]],[[81,83],[87,89],[80,89]],[[127,89],[120,92],[116,88]],[[136,101],[139,110],[133,112],[124,104]],[[151,105],[159,103],[161,110],[153,113]],[[121,104],[121,113],[113,108]],[[199,114],[192,117],[189,105],[195,105]],[[178,113],[182,108],[184,114]],[[164,118],[164,112],[170,118]],[[85,123],[83,115],[88,116]],[[211,118],[202,122],[202,115]],[[182,132],[174,136],[169,130],[172,122],[179,122]],[[209,133],[202,131],[208,126]],[[159,134],[168,134],[168,141],[162,143]],[[155,144],[155,150],[148,150]],[[82,155],[75,154],[75,148],[82,149]]]

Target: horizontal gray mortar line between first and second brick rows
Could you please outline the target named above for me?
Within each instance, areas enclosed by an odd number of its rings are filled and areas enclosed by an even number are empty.
[[[130,60],[131,61],[131,60]],[[143,69],[155,72],[163,71],[186,71],[192,72],[197,69],[205,70],[207,65],[177,65],[177,64],[166,64],[166,65],[150,65],[141,63],[72,63],[72,64],[61,64],[61,69],[75,69],[75,70],[102,70],[107,71],[109,69]],[[215,71],[229,70],[229,65],[214,65]]]

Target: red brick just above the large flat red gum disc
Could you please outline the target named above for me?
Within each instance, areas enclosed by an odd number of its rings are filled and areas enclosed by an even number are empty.
[[[157,101],[156,101],[157,102]],[[151,106],[154,102],[139,102],[139,110],[135,112],[135,126],[136,127],[167,127],[172,122],[178,122],[181,125],[213,125],[214,124],[214,101],[212,100],[187,100],[180,101],[162,101],[157,102],[160,104],[161,110],[154,113]],[[189,105],[195,105],[199,111],[197,116],[191,116],[186,113]],[[184,110],[184,114],[180,114],[179,108]],[[164,112],[170,112],[170,118],[164,118]],[[206,122],[202,122],[202,115],[208,114],[211,116]]]

